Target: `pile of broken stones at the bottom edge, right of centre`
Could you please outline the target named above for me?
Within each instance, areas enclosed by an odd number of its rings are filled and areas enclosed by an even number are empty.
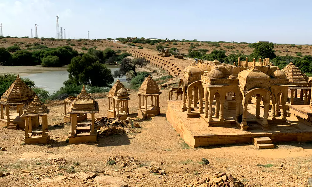
[[[216,173],[213,176],[197,178],[191,181],[189,184],[185,184],[185,187],[249,187],[247,183],[242,183],[230,172],[227,173]]]

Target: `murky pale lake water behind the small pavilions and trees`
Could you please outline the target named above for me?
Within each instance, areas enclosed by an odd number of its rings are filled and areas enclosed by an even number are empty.
[[[116,70],[119,69],[118,66],[115,65],[106,65],[111,71],[112,74]],[[60,87],[64,86],[63,82],[68,79],[68,72],[67,67],[57,67],[55,69],[49,68],[49,69],[37,69],[37,70],[29,70],[20,73],[20,76],[22,78],[29,78],[32,81],[35,82],[36,87],[39,88],[45,88],[48,91],[50,91],[50,94],[57,91]],[[126,76],[122,78],[116,78],[114,81],[117,81],[117,79],[124,84],[124,86],[127,86],[128,83],[126,82]]]

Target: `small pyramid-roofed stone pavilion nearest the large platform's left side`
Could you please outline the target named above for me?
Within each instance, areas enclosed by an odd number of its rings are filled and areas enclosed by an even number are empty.
[[[159,110],[159,92],[158,84],[152,79],[149,75],[144,82],[142,83],[141,87],[139,88],[139,111],[138,117],[141,118],[148,118],[156,116],[160,113]],[[142,96],[142,105],[141,105],[141,96]],[[151,103],[148,104],[148,97],[151,97]],[[154,97],[154,104],[153,104],[153,97]],[[145,100],[145,105],[144,105]]]

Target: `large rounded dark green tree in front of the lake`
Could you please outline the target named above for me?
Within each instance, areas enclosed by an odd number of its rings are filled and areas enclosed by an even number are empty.
[[[87,53],[74,57],[68,65],[67,71],[70,81],[76,85],[91,84],[92,86],[110,87],[110,84],[114,82],[111,70]]]

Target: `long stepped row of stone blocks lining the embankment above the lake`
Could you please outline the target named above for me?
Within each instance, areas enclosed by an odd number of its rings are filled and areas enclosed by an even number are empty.
[[[168,72],[168,75],[178,76],[179,74],[181,74],[181,70],[177,67],[177,65],[174,64],[173,61],[166,60],[165,58],[161,58],[159,56],[145,54],[133,49],[129,49],[127,52],[131,53],[134,57],[146,59],[150,63],[150,65],[155,65],[158,68],[166,70]]]

